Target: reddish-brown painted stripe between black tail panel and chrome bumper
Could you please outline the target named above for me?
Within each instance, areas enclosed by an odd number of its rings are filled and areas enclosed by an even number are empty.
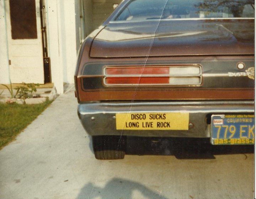
[[[81,102],[100,100],[254,99],[253,90],[94,91],[79,87]]]

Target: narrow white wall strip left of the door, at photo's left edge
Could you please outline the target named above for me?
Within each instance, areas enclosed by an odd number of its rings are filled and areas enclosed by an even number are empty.
[[[5,1],[0,1],[0,84],[10,84]]]

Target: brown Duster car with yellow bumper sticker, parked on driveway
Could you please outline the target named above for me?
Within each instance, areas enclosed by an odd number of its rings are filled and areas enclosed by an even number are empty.
[[[129,136],[254,144],[254,0],[124,0],[82,43],[78,116],[97,159]]]

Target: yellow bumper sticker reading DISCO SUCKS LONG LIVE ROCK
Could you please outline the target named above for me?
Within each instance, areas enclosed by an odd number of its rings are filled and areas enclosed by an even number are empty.
[[[117,130],[188,130],[189,113],[116,113]]]

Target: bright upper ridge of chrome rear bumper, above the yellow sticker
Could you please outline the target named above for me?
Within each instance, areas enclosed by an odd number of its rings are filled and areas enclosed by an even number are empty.
[[[227,106],[229,104],[229,106]],[[254,113],[252,100],[198,100],[156,102],[95,102],[79,104],[80,114],[128,113],[128,112],[190,112],[190,113]],[[86,107],[86,108],[85,108]],[[171,108],[170,108],[171,107]]]

